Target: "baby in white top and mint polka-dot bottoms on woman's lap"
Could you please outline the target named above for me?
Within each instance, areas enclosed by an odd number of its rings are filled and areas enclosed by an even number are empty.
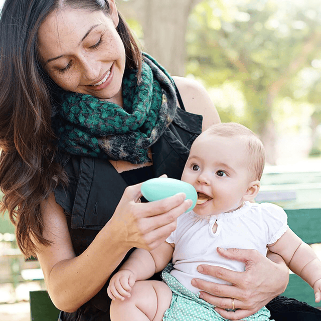
[[[199,264],[244,271],[244,263],[223,258],[217,247],[255,249],[263,255],[268,247],[313,287],[315,301],[320,301],[321,262],[289,229],[280,207],[251,202],[260,189],[264,161],[262,142],[240,124],[216,124],[196,138],[182,181],[195,187],[197,205],[178,218],[166,242],[151,251],[136,249],[111,278],[112,321],[225,320],[191,284],[193,278],[226,283],[199,273]],[[163,269],[165,282],[143,281]],[[237,305],[232,298],[231,308]],[[263,307],[245,320],[269,316]]]

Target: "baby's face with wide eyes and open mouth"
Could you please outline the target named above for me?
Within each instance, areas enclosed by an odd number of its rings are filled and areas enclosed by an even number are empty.
[[[194,208],[198,215],[240,208],[251,181],[244,144],[237,137],[201,134],[191,147],[182,181],[192,184],[198,193]]]

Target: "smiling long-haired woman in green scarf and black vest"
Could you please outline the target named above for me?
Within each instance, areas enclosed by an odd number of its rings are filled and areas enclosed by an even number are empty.
[[[60,319],[108,320],[117,266],[164,241],[190,207],[182,194],[140,203],[140,183],[179,179],[188,148],[219,117],[200,85],[141,55],[115,0],[7,0],[0,22],[4,209]],[[278,257],[221,254],[247,270],[200,268],[235,285],[194,282],[223,316],[243,318],[284,290]],[[224,309],[232,301],[236,312]]]

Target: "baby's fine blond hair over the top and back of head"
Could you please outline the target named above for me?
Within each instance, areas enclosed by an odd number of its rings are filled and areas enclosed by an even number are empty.
[[[238,136],[248,151],[248,170],[252,173],[251,179],[258,181],[261,179],[265,164],[265,148],[252,130],[235,122],[226,122],[212,125],[205,133],[223,137]]]

